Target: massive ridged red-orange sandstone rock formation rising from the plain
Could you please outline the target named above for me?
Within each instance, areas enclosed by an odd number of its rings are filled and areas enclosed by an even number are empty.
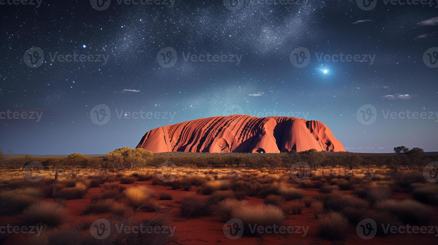
[[[324,123],[246,115],[214,116],[159,127],[147,132],[137,148],[155,153],[345,151]]]

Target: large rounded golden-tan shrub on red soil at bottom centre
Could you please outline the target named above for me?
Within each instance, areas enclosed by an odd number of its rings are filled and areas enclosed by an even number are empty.
[[[245,235],[260,235],[251,233],[249,227],[267,227],[274,225],[281,225],[286,219],[286,215],[279,207],[272,205],[240,205],[235,207],[231,212],[232,219],[240,219],[244,224]],[[255,231],[257,232],[257,230]]]

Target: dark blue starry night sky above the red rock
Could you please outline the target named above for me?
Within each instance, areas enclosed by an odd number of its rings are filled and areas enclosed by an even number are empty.
[[[378,0],[364,11],[356,0],[247,0],[228,8],[222,0],[112,0],[105,10],[88,0],[40,1],[0,5],[5,153],[105,154],[135,147],[155,127],[229,112],[318,120],[346,151],[438,151],[437,2]],[[310,61],[299,68],[291,60],[302,47]],[[360,61],[331,59],[340,54]],[[73,55],[94,58],[63,59]],[[170,57],[173,66],[163,65]],[[107,122],[96,123],[106,110]],[[427,118],[385,116],[406,111]],[[149,116],[134,118],[141,112]],[[360,119],[369,112],[371,124]]]

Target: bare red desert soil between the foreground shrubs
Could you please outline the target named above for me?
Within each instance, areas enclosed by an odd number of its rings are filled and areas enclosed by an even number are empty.
[[[304,207],[302,214],[289,215],[284,225],[290,226],[309,226],[306,236],[302,234],[286,234],[286,235],[264,235],[260,237],[242,237],[237,240],[230,240],[223,234],[223,223],[215,217],[199,217],[199,218],[185,218],[180,217],[178,211],[180,202],[184,196],[196,195],[197,198],[207,198],[208,196],[197,193],[198,188],[193,186],[190,191],[184,190],[172,190],[169,186],[152,186],[151,181],[135,182],[133,185],[146,185],[154,190],[156,196],[159,193],[169,193],[173,196],[174,200],[158,200],[163,204],[172,204],[174,209],[169,217],[170,225],[177,226],[175,235],[178,236],[178,243],[182,245],[189,244],[335,244],[333,241],[322,239],[318,236],[316,230],[316,224],[318,220],[314,218],[310,208]],[[130,185],[123,185],[130,186]],[[318,195],[318,189],[304,189],[306,195]],[[90,188],[84,198],[78,200],[67,201],[67,209],[69,211],[69,219],[72,224],[82,221],[86,218],[86,215],[82,214],[88,203],[91,202],[91,196],[99,193],[100,188]],[[350,191],[344,191],[343,193],[350,194]],[[396,199],[402,200],[411,198],[409,193],[396,193],[394,196]],[[247,197],[250,203],[258,204],[263,203],[263,199],[257,197]],[[121,202],[126,203],[127,200],[121,199]],[[438,207],[429,205],[434,210],[434,216],[432,217],[431,226],[438,225]],[[155,213],[143,213],[139,212],[134,219],[141,220],[144,218],[150,218]],[[18,216],[19,217],[19,216]],[[107,218],[109,215],[101,215],[99,217]],[[1,217],[1,224],[20,225],[20,221],[14,217]],[[357,236],[356,228],[353,225],[349,227],[349,234],[344,241],[336,241],[336,244],[436,244],[438,241],[435,234],[397,234],[389,235],[387,237],[374,237],[371,240],[364,240]],[[26,236],[18,235],[14,239],[8,240],[5,244],[26,244]]]

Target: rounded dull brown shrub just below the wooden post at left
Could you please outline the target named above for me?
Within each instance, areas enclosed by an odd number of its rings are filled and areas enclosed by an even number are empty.
[[[67,210],[57,203],[39,202],[23,211],[23,221],[29,225],[56,227],[67,221]]]

